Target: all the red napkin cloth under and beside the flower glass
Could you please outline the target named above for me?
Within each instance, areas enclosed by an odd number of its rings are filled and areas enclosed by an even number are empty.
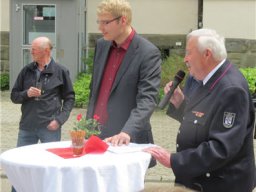
[[[108,144],[102,141],[99,137],[93,135],[84,144],[84,150],[82,154],[79,156],[73,156],[73,150],[71,147],[51,148],[46,150],[64,159],[69,159],[69,158],[81,157],[87,153],[97,153],[97,154],[104,153],[107,149],[108,149]]]

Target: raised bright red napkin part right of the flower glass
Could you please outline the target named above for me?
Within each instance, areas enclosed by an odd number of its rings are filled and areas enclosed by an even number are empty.
[[[108,144],[99,137],[92,135],[84,145],[85,153],[104,153],[108,149]]]

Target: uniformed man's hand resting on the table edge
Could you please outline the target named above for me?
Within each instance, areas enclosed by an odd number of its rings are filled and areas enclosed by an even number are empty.
[[[150,153],[163,166],[171,168],[171,153],[162,147],[149,147],[143,151]]]

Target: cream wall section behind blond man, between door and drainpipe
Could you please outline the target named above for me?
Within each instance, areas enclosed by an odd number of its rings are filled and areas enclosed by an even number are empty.
[[[87,0],[87,29],[99,33],[96,8],[101,0]],[[187,34],[197,28],[197,0],[130,0],[132,25],[141,34]]]

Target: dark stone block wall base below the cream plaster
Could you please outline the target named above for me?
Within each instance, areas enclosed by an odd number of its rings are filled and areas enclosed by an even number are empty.
[[[1,33],[1,72],[9,72],[9,32]],[[168,55],[184,56],[185,35],[142,35]],[[89,34],[89,47],[94,48],[101,34]],[[228,58],[238,67],[256,67],[256,40],[226,39]]]

